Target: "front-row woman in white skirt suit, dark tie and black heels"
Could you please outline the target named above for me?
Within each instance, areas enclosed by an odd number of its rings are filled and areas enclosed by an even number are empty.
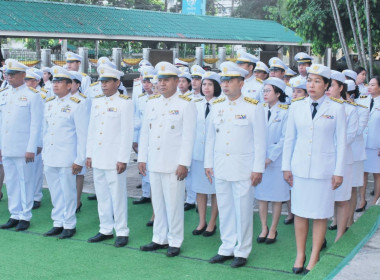
[[[292,187],[296,274],[304,271],[309,219],[313,220],[313,248],[306,272],[319,260],[327,219],[334,215],[334,189],[343,182],[346,149],[343,102],[325,95],[331,70],[313,64],[307,73],[309,97],[290,106],[282,158],[284,178]]]

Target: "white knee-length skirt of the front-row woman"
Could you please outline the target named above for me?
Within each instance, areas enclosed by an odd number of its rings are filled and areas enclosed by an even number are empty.
[[[331,179],[293,176],[292,213],[308,219],[328,219],[334,215]]]

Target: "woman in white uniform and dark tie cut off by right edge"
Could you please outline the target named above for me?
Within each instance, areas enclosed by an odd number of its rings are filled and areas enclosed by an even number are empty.
[[[364,186],[360,188],[361,208],[363,211],[367,205],[365,190],[367,187],[368,173],[373,173],[375,180],[375,194],[373,203],[380,197],[380,76],[375,76],[369,81],[368,95],[362,95],[358,99],[362,105],[369,107],[368,126],[364,131],[367,159],[364,162]]]

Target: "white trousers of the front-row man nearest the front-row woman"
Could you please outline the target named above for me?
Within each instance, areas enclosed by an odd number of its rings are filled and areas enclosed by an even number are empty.
[[[222,240],[218,254],[248,258],[253,236],[254,188],[251,181],[215,178],[215,190]]]

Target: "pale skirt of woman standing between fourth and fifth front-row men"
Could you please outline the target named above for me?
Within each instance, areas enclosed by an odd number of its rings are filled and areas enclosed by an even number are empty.
[[[193,160],[191,162],[191,189],[196,193],[215,194],[215,178],[212,184],[205,174],[204,162],[200,160]]]

